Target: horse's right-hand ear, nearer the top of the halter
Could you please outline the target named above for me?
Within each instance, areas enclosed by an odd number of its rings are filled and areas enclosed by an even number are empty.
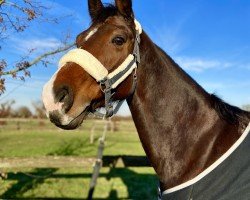
[[[132,9],[132,0],[115,0],[118,11],[125,17],[134,17]]]

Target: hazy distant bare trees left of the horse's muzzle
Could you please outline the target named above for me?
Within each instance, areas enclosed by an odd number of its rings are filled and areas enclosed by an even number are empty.
[[[42,102],[32,103],[33,112],[27,106],[14,108],[15,101],[6,101],[0,104],[0,118],[46,118]]]

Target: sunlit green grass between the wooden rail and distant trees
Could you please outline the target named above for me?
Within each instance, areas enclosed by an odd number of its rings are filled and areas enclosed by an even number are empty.
[[[124,123],[124,122],[123,122]],[[106,135],[106,155],[145,155],[135,129],[131,132],[121,123],[118,132]],[[126,123],[126,122],[125,122]],[[133,126],[132,122],[127,122]],[[98,124],[95,142],[90,144],[89,135],[92,121],[86,121],[84,128],[76,131],[62,131],[49,123],[43,126],[33,121],[15,128],[10,122],[0,131],[0,157],[36,157],[46,155],[74,155],[93,157],[96,155],[98,138],[102,136],[103,124]]]

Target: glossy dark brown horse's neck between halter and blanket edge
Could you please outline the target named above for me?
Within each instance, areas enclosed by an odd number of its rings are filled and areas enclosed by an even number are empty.
[[[166,189],[207,168],[238,139],[238,129],[218,117],[210,95],[145,34],[140,51],[137,88],[128,104],[145,152]],[[222,129],[228,130],[226,136]]]

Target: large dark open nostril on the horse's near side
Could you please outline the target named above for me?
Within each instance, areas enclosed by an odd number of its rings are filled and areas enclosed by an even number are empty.
[[[56,101],[63,103],[63,109],[68,112],[73,105],[73,92],[69,86],[62,86],[55,91]]]

